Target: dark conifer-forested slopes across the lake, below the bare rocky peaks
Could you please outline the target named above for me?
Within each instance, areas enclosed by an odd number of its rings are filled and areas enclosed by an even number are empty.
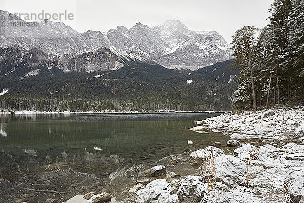
[[[8,111],[231,110],[238,74],[231,62],[194,72],[140,62],[99,73],[45,68],[34,77],[3,76],[0,87],[9,91],[0,104]]]

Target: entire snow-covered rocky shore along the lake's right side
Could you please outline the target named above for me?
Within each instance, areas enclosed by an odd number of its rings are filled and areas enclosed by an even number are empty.
[[[169,164],[167,167],[154,166],[142,172],[148,178],[138,180],[130,188],[128,198],[119,202],[304,203],[303,110],[223,114],[205,119],[195,130],[218,130],[240,141],[227,142],[225,148],[231,151],[230,154],[214,146],[193,151],[187,159],[198,163],[197,166],[188,165],[196,167],[196,173],[192,175],[176,175],[175,168]],[[244,143],[249,143],[250,138],[265,138],[268,142],[262,142],[261,146]],[[282,146],[275,144],[280,139],[285,141]],[[95,201],[97,196],[90,195],[87,200],[78,195],[74,198],[83,201],[71,199],[66,203],[106,202]],[[109,201],[118,202],[115,198],[107,198]]]

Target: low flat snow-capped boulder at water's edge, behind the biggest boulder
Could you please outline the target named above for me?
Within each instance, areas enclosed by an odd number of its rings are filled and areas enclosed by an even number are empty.
[[[225,155],[225,151],[217,147],[208,146],[205,149],[199,149],[190,154],[191,158],[210,159],[212,157]]]

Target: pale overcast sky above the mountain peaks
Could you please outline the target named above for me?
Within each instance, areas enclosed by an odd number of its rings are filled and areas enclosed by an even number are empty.
[[[179,20],[191,30],[216,30],[231,43],[232,35],[244,25],[262,28],[268,22],[273,0],[0,0],[0,9],[10,13],[72,13],[61,20],[79,32],[100,30],[137,22],[148,26]],[[55,21],[55,20],[53,20]]]

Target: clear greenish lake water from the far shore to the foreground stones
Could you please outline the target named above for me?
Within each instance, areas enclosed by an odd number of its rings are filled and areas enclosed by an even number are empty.
[[[104,190],[119,196],[144,168],[188,151],[188,140],[195,149],[229,140],[188,130],[194,121],[217,115],[0,114],[0,202],[62,202],[78,192]]]

